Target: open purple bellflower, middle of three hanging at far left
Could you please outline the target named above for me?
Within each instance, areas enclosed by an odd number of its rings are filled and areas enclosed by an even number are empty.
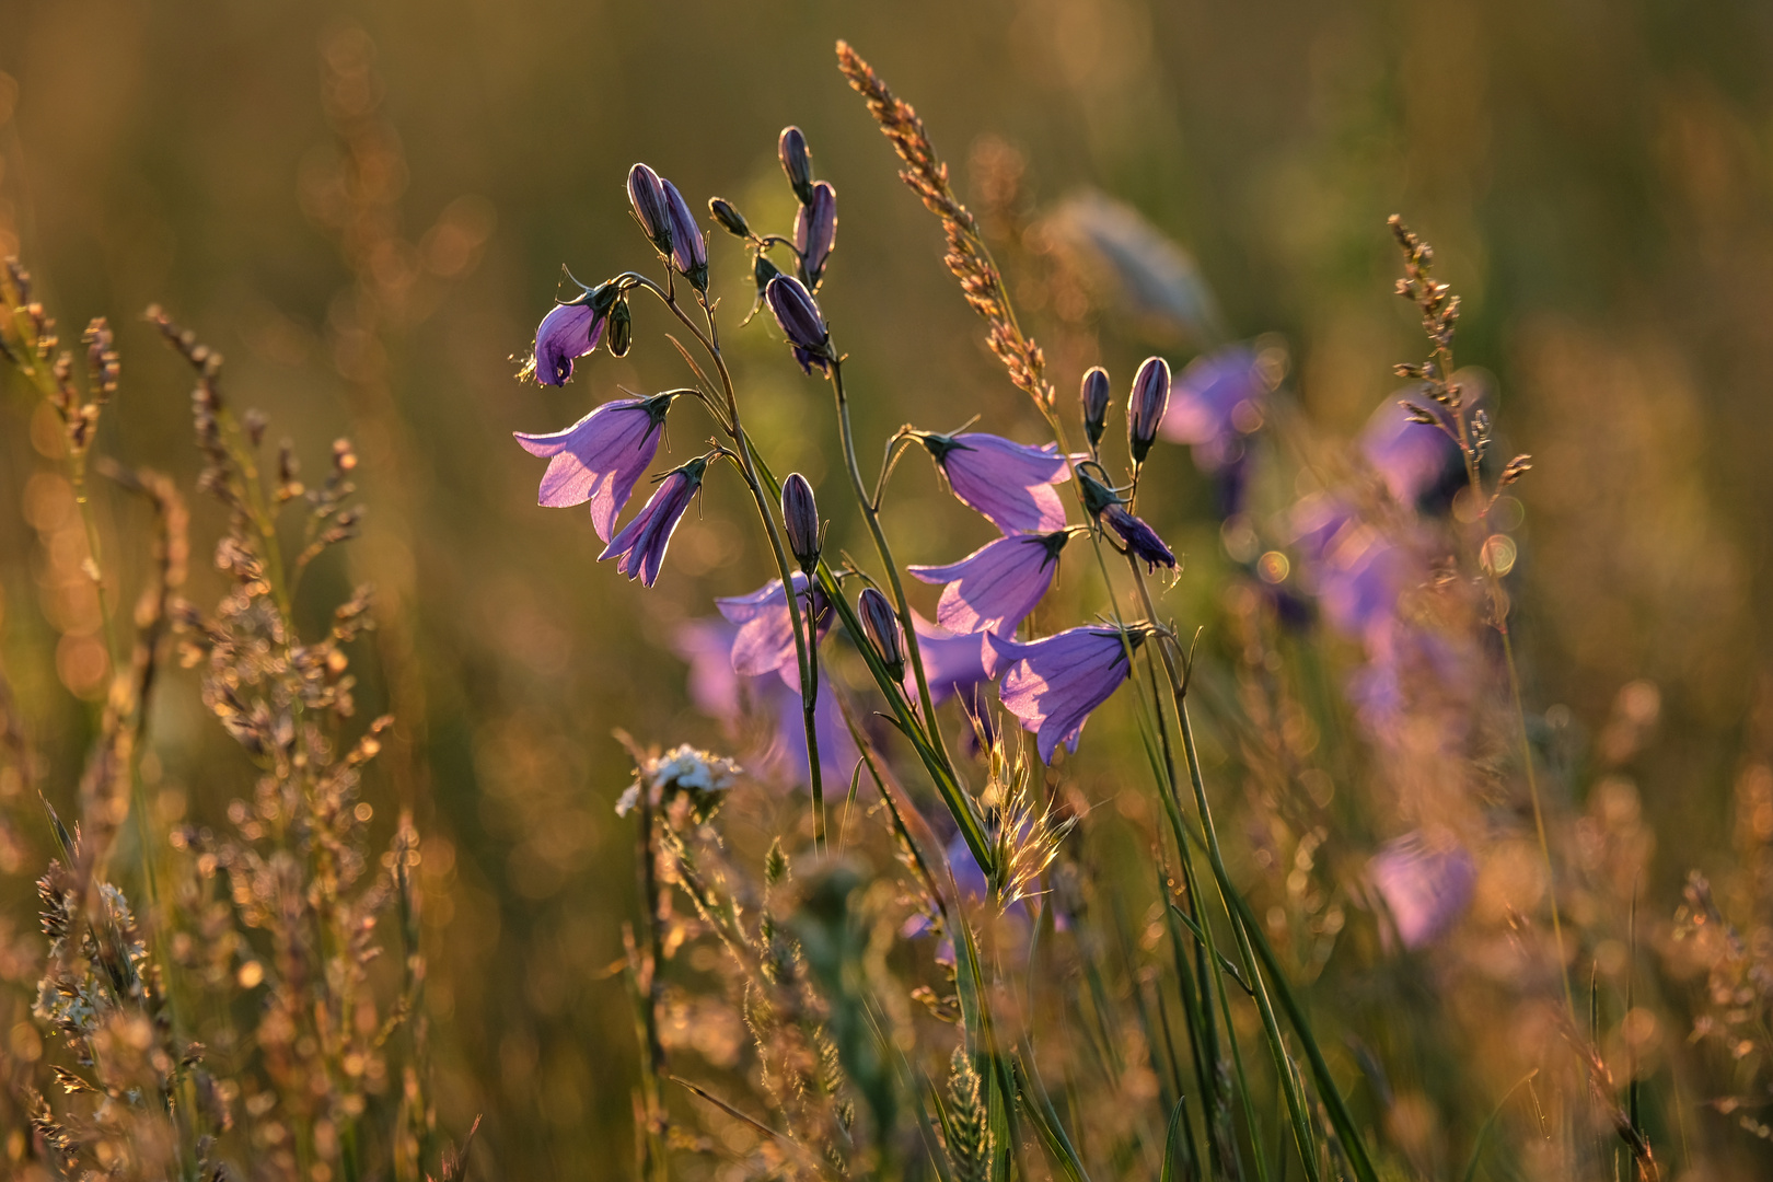
[[[566,431],[514,432],[525,452],[551,457],[535,502],[550,509],[590,502],[590,525],[608,542],[635,482],[660,450],[660,425],[674,397],[615,399]]]

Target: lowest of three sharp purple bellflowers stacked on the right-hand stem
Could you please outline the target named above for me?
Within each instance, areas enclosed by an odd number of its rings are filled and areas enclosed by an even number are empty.
[[[1087,624],[1032,643],[986,633],[986,643],[1009,663],[998,686],[1004,709],[1035,734],[1041,758],[1050,762],[1060,743],[1078,750],[1090,711],[1126,680],[1126,643],[1138,647],[1145,633]]]

